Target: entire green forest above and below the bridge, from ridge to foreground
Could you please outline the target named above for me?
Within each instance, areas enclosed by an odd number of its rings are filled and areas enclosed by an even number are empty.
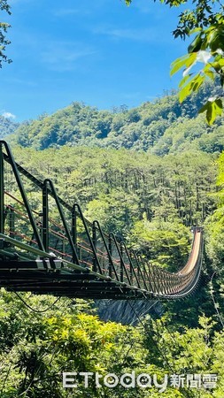
[[[102,321],[91,300],[55,303],[48,295],[21,294],[28,308],[2,289],[1,398],[223,397],[224,119],[208,126],[197,116],[212,89],[182,104],[176,93],[130,110],[72,103],[19,126],[9,122],[2,137],[16,161],[40,180],[53,180],[62,198],[80,203],[86,218],[97,218],[151,264],[180,270],[191,226],[203,226],[205,249],[194,294],[161,302],[160,315],[152,309],[135,326]],[[138,314],[129,307],[134,323]],[[64,371],[134,371],[156,374],[158,383],[112,388],[89,379],[85,388],[77,376],[78,387],[64,388]],[[211,374],[216,387],[206,383]],[[169,382],[162,391],[166,375],[185,382]],[[187,375],[200,375],[201,385],[188,385]]]

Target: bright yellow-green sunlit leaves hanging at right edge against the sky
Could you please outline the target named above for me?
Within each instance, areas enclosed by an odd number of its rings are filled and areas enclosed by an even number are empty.
[[[190,43],[188,54],[176,59],[171,65],[171,75],[177,73],[184,67],[182,80],[180,81],[180,102],[187,96],[197,92],[206,79],[219,81],[220,87],[224,87],[224,17],[216,14],[214,23],[204,29],[195,28],[189,34],[196,34]],[[192,68],[198,63],[203,67],[192,73]],[[199,110],[199,113],[206,112],[206,119],[209,125],[220,116],[223,111],[222,96],[209,97],[207,102]]]

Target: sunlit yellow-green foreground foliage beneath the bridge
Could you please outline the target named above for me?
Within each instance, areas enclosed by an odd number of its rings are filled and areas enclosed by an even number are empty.
[[[2,398],[149,397],[158,398],[161,387],[85,388],[77,376],[77,388],[63,388],[63,371],[98,372],[103,377],[125,372],[156,374],[162,385],[166,375],[219,374],[214,390],[165,385],[169,398],[220,398],[223,388],[223,333],[213,333],[210,318],[201,317],[197,328],[182,332],[167,317],[146,318],[137,328],[101,322],[91,303],[48,296],[23,295],[29,310],[13,293],[1,290],[0,391]],[[50,307],[51,306],[51,307]],[[50,307],[49,310],[48,307]],[[36,311],[40,311],[39,313]],[[43,311],[43,312],[41,312]]]

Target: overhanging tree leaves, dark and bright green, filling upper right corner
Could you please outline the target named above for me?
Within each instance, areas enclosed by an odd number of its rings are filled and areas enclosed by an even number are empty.
[[[132,0],[126,0],[131,4]],[[160,0],[170,7],[189,4],[188,0]],[[224,87],[224,7],[220,0],[197,0],[190,3],[190,10],[182,11],[174,37],[185,39],[192,36],[188,53],[174,60],[171,75],[183,68],[180,81],[180,101],[197,92],[205,80],[215,82],[220,90],[215,96],[209,96],[199,112],[206,113],[211,125],[223,111]],[[201,66],[202,65],[202,66]]]

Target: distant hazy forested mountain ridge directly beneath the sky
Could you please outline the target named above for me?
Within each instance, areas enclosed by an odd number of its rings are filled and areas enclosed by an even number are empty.
[[[182,104],[173,93],[131,110],[122,105],[113,111],[98,111],[72,103],[52,115],[21,124],[12,142],[35,149],[62,145],[140,149],[160,156],[186,149],[220,152],[224,148],[224,120],[208,126],[205,115],[197,116],[204,96],[212,90],[205,86],[200,96]]]

